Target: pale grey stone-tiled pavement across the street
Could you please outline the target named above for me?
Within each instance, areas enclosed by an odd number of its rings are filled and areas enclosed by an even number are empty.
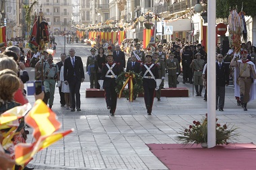
[[[187,84],[182,87],[188,86]],[[129,102],[118,99],[115,116],[106,110],[104,98],[86,98],[82,83],[81,112],[70,112],[59,103],[55,91],[53,111],[62,124],[61,130],[74,132],[30,161],[35,169],[167,169],[149,150],[148,143],[177,143],[177,132],[193,120],[201,120],[207,112],[203,97],[162,97],[154,101],[152,116],[146,113],[142,97]],[[181,86],[180,86],[181,87]],[[236,105],[232,87],[226,88],[224,112],[216,111],[218,122],[238,127],[238,140],[256,142],[256,102],[248,104],[248,112]],[[34,97],[28,96],[30,103]],[[32,134],[32,130],[30,134]],[[32,142],[31,135],[28,142]]]

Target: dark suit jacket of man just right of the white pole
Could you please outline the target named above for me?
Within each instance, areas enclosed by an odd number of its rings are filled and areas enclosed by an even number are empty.
[[[222,62],[219,67],[219,62],[216,62],[216,86],[224,87],[229,83],[229,68]]]

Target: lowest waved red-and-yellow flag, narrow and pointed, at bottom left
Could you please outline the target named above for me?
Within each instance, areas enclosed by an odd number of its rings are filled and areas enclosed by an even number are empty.
[[[38,151],[51,146],[67,134],[73,132],[73,129],[64,132],[55,132],[53,134],[40,136],[36,142],[32,144],[19,143],[15,145],[15,162],[17,165],[28,163]]]

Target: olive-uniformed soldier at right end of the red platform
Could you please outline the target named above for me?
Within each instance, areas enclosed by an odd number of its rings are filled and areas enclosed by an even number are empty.
[[[166,60],[166,71],[168,75],[168,85],[169,88],[177,87],[177,75],[181,71],[179,61],[174,58],[174,54],[170,53],[168,59]]]

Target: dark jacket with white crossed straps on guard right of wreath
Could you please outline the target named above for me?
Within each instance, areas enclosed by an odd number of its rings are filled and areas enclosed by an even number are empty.
[[[152,65],[152,62],[150,64],[144,64],[150,67]],[[146,67],[142,65],[141,66],[141,76],[143,77],[144,73],[147,71]],[[155,79],[158,79],[158,67],[154,64],[154,66],[150,69],[152,71],[152,74],[154,75]],[[147,73],[146,76],[151,76],[150,73]],[[156,88],[156,81],[154,79],[145,79],[143,78],[143,87],[149,87],[149,88]]]

